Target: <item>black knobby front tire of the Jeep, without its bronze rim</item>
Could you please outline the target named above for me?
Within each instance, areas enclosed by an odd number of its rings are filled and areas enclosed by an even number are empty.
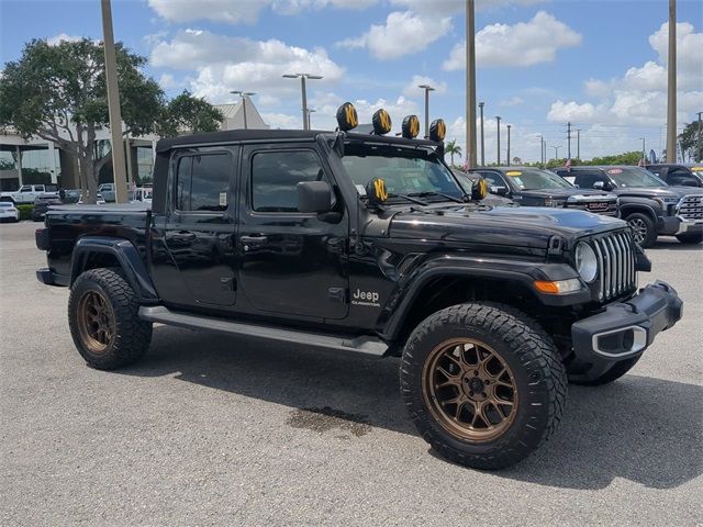
[[[423,371],[440,343],[470,338],[490,346],[510,367],[517,405],[510,426],[493,440],[470,441],[450,433],[423,395]],[[498,303],[458,304],[423,321],[401,362],[401,392],[422,437],[445,458],[477,469],[514,464],[555,431],[566,404],[567,374],[551,338],[522,312]]]

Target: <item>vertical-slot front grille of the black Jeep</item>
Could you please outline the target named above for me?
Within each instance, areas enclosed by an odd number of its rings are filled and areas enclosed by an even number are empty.
[[[637,287],[635,242],[629,231],[593,238],[601,277],[601,300],[614,299]]]

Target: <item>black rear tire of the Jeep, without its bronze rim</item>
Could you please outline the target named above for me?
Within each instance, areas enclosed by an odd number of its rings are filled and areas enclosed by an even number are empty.
[[[114,335],[104,350],[94,352],[81,336],[81,299],[97,292],[107,300],[114,316]],[[152,340],[152,323],[138,317],[140,304],[130,284],[113,269],[91,269],[81,273],[70,290],[68,325],[78,352],[98,370],[121,368],[141,359]]]

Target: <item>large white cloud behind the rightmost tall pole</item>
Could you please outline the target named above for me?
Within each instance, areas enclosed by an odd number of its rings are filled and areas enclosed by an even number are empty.
[[[551,122],[616,123],[618,125],[660,126],[667,112],[668,24],[649,36],[657,60],[628,68],[621,77],[589,79],[584,91],[593,102],[558,100],[547,119]],[[703,33],[689,23],[677,24],[677,121],[690,120],[703,101]]]

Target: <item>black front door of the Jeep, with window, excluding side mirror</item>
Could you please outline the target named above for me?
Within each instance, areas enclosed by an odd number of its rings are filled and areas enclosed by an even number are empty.
[[[242,175],[239,282],[252,311],[344,318],[349,229],[344,203],[333,190],[337,217],[298,212],[299,182],[334,187],[319,153],[311,144],[246,146]]]

